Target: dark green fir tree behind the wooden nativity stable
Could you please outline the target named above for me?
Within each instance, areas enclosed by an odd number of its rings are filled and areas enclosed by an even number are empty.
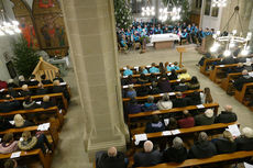
[[[19,75],[29,78],[38,63],[38,55],[28,46],[28,42],[23,37],[13,43],[13,53],[14,67]]]

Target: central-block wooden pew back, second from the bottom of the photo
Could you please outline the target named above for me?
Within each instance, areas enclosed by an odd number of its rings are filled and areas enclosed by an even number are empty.
[[[229,125],[238,124],[238,122],[233,123],[217,123],[217,124],[211,124],[211,125],[202,125],[202,126],[194,126],[194,127],[188,127],[188,128],[178,128],[180,131],[179,134],[176,136],[180,136],[182,134],[191,134],[191,133],[197,133],[197,132],[207,132],[210,130],[221,130],[221,128],[227,128]],[[144,134],[143,130],[141,131],[135,131],[133,130],[132,135],[135,134]],[[147,139],[152,138],[157,138],[157,137],[166,137],[166,136],[172,136],[175,137],[175,135],[163,135],[163,132],[157,132],[157,133],[148,133],[146,134]],[[132,137],[133,141],[135,141],[135,136]]]

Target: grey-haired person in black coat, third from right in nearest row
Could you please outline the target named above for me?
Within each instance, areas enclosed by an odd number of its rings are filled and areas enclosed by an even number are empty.
[[[189,149],[188,158],[208,158],[216,154],[216,145],[208,141],[205,132],[200,132],[198,141]]]

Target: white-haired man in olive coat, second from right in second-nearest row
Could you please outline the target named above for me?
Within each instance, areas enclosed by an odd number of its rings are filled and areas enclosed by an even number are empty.
[[[206,110],[204,114],[195,116],[196,125],[211,125],[215,122],[213,111],[211,109]]]

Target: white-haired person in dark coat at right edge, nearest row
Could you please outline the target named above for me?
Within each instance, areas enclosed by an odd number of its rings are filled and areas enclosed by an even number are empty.
[[[242,135],[234,139],[237,150],[253,150],[253,130],[243,127]]]

